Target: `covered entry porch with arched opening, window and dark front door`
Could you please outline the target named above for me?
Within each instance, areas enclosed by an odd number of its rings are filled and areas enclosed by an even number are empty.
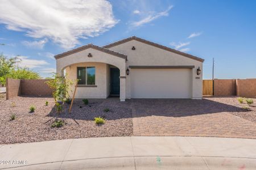
[[[69,79],[79,79],[76,98],[107,98],[115,95],[125,101],[125,55],[89,44],[55,58],[57,74],[64,76],[65,70]]]

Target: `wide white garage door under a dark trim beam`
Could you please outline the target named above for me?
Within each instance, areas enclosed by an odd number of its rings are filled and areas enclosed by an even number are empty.
[[[191,98],[191,69],[131,69],[132,98]]]

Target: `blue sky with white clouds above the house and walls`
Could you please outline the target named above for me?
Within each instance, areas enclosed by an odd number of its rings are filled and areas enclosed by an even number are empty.
[[[61,2],[61,3],[60,3]],[[256,1],[2,0],[0,52],[43,77],[53,55],[141,37],[205,59],[204,79],[256,77]]]

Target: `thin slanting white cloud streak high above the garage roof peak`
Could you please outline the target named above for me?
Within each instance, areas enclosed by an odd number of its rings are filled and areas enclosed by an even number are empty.
[[[163,12],[158,12],[156,14],[150,14],[146,18],[143,18],[143,19],[141,19],[141,20],[139,20],[137,22],[132,22],[131,26],[132,27],[139,27],[139,26],[142,26],[142,25],[144,25],[146,23],[150,23],[153,20],[160,18],[161,16],[168,16],[169,15],[169,11],[171,10],[172,7],[173,6],[169,6],[167,8],[167,10],[165,10]]]

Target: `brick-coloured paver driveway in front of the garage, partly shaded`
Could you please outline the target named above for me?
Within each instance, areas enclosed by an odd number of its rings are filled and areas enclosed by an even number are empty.
[[[246,114],[236,98],[131,101],[134,135],[256,138],[256,122],[235,115]]]

